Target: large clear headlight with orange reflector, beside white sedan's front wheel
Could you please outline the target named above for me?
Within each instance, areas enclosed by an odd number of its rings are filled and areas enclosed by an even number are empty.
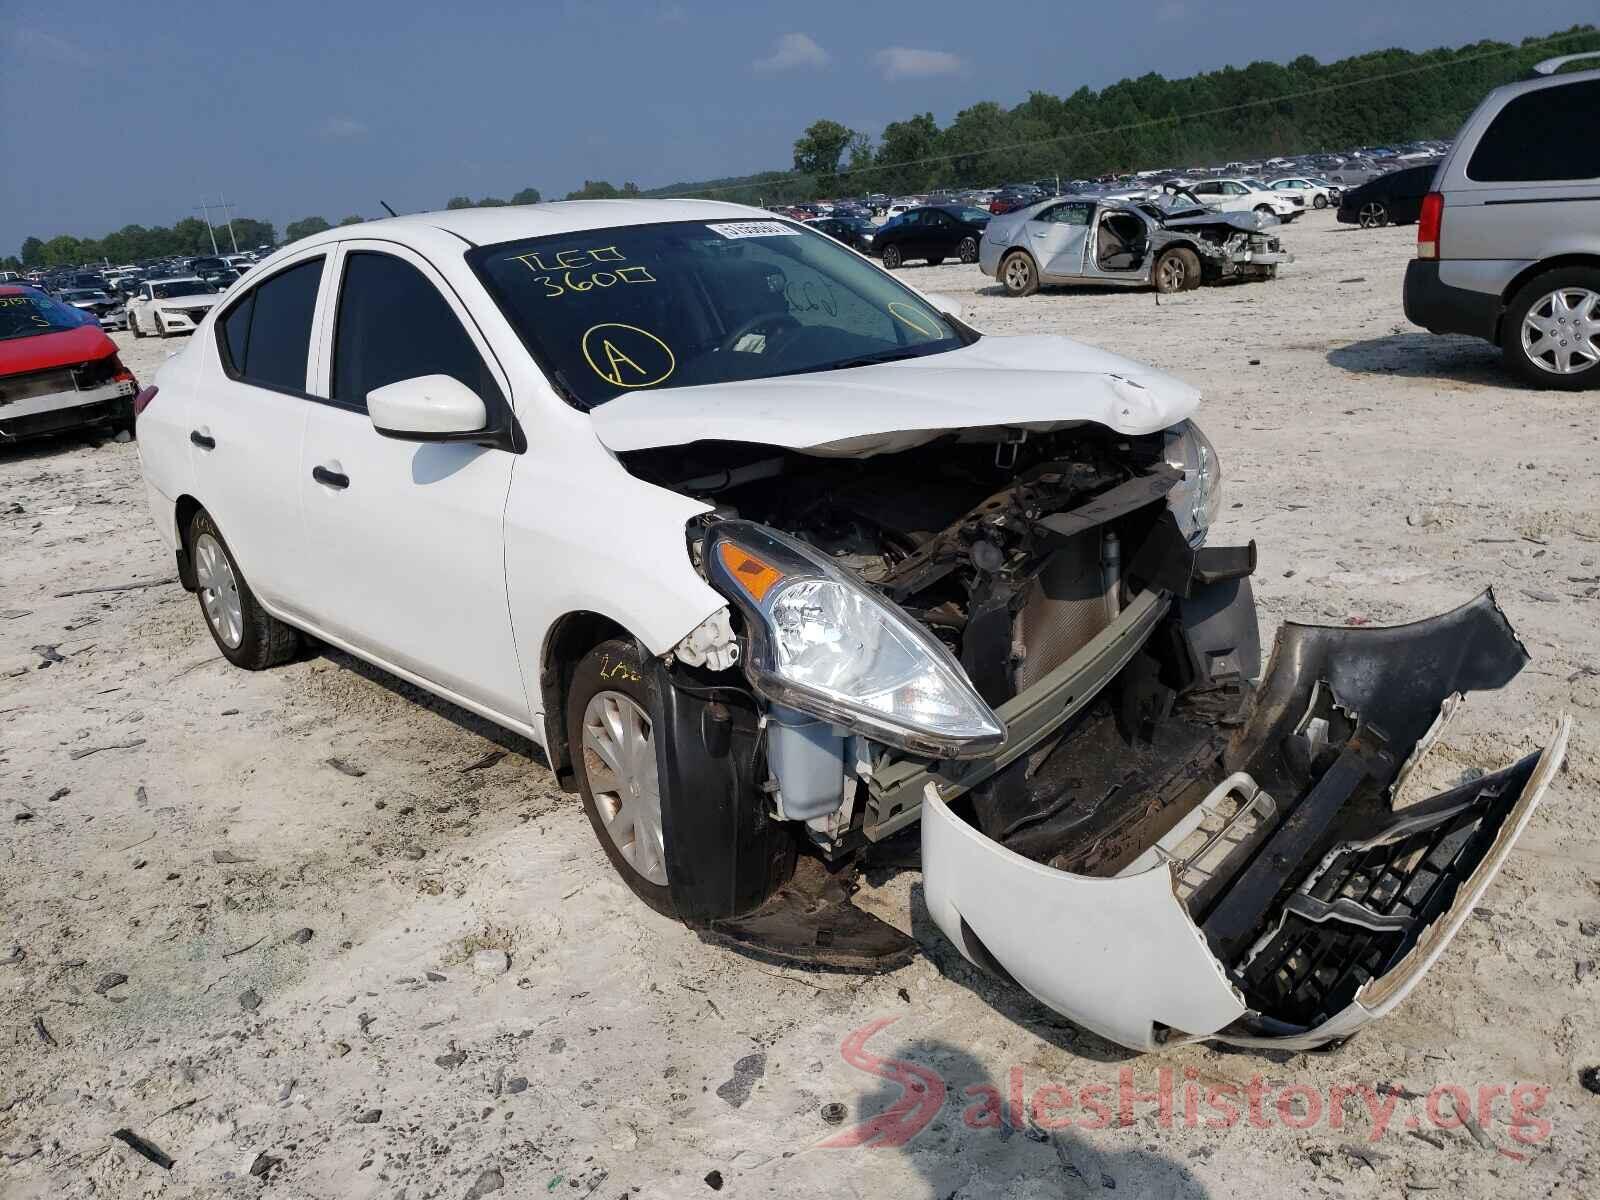
[[[768,699],[938,758],[1005,739],[938,638],[805,542],[723,522],[706,538],[706,571],[747,618],[746,674]]]

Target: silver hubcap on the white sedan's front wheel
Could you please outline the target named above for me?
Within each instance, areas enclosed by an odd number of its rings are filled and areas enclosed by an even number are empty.
[[[666,886],[656,739],[632,696],[598,691],[584,707],[584,771],[611,845],[648,882]]]

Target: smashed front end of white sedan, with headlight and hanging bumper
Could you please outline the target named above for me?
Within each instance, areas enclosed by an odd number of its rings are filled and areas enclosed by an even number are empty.
[[[674,906],[766,957],[904,962],[851,869],[920,819],[934,923],[1080,1024],[1338,1040],[1438,955],[1563,754],[1410,794],[1462,694],[1526,662],[1490,594],[1285,626],[1262,675],[1256,550],[1206,546],[1190,421],[622,458],[707,504],[690,554],[728,600],[654,664],[662,787],[694,797],[664,814]]]

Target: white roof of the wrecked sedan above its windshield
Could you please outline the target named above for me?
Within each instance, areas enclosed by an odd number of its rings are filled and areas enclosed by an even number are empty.
[[[474,246],[518,242],[550,234],[581,234],[587,229],[650,226],[667,221],[771,221],[765,208],[730,205],[722,200],[555,200],[541,205],[501,205],[496,208],[451,208],[437,213],[408,213],[358,226],[336,226],[293,243],[296,250],[384,234],[430,234],[445,230]]]

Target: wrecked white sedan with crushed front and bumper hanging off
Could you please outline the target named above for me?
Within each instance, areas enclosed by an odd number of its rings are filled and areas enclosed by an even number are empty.
[[[1390,811],[1526,654],[1485,594],[1286,626],[1256,685],[1197,403],[770,213],[602,200],[296,242],[136,411],[232,664],[310,634],[525,734],[659,912],[904,962],[840,885],[923,818],[973,962],[1130,1046],[1317,1045],[1416,984],[1562,738]]]

